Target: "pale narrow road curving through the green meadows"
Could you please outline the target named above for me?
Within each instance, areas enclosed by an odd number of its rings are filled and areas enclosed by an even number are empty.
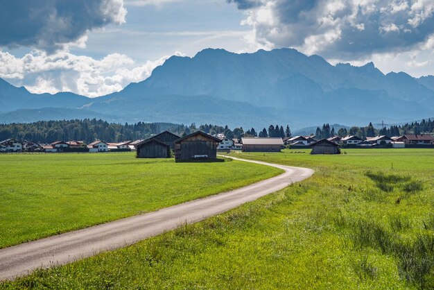
[[[185,223],[202,221],[209,216],[226,212],[238,205],[283,189],[293,182],[309,178],[313,174],[312,169],[231,158],[277,167],[284,169],[285,172],[247,187],[166,207],[156,212],[3,248],[0,250],[0,280],[12,280],[27,275],[35,268],[67,264],[106,250],[134,244]]]

